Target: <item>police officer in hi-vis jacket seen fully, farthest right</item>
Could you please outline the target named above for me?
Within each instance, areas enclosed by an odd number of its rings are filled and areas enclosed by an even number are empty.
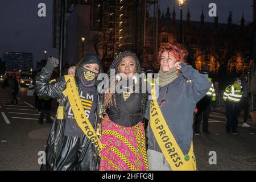
[[[237,135],[238,116],[240,111],[240,101],[242,98],[241,78],[236,77],[234,84],[226,87],[224,92],[226,102],[226,133]]]

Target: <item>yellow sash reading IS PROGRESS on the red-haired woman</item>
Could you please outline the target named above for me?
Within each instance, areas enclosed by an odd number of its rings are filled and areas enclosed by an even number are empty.
[[[188,154],[184,155],[166,124],[166,120],[156,100],[155,89],[152,89],[151,93],[150,126],[164,158],[166,158],[172,171],[195,171],[196,157],[193,152],[193,142],[191,142]]]

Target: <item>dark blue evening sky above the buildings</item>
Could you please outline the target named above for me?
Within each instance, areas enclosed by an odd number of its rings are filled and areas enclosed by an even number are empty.
[[[176,0],[159,0],[161,13],[169,6],[171,13],[174,8],[177,19],[179,8]],[[38,16],[38,4],[46,3],[46,17]],[[187,8],[191,14],[191,20],[200,21],[202,7],[204,9],[205,22],[213,22],[208,16],[208,5],[214,2],[217,5],[217,13],[220,23],[226,23],[229,10],[233,11],[233,23],[240,23],[242,11],[246,23],[252,21],[253,0],[187,0],[184,5],[183,17],[187,14]],[[1,0],[0,1],[0,57],[4,51],[27,52],[34,56],[34,68],[36,62],[44,59],[43,51],[47,55],[58,56],[58,50],[52,48],[52,1],[51,0]]]

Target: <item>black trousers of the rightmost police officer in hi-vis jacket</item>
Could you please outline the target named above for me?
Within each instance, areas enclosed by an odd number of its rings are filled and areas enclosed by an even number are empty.
[[[232,133],[237,132],[238,116],[241,105],[240,102],[230,102],[226,103],[226,132]]]

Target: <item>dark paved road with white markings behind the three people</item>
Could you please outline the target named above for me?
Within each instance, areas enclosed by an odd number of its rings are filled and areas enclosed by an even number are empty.
[[[0,170],[39,170],[38,152],[44,151],[51,123],[38,124],[39,114],[34,98],[19,94],[18,105],[6,105],[0,91]],[[52,117],[56,111],[53,101]],[[239,135],[225,133],[225,109],[214,108],[209,119],[210,135],[194,136],[194,150],[199,170],[256,170],[247,162],[256,160],[256,123],[249,119],[250,128],[241,127]],[[215,151],[217,164],[209,164],[209,152]]]

